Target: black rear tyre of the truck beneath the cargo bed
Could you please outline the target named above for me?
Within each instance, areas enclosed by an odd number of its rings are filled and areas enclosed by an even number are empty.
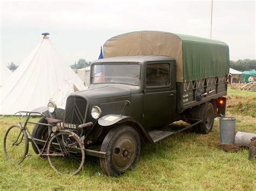
[[[208,102],[201,106],[202,108],[199,110],[199,119],[202,119],[203,122],[198,124],[198,131],[201,134],[208,134],[212,131],[213,123],[214,123],[214,108],[213,105]],[[206,125],[206,114],[210,112],[210,127]]]

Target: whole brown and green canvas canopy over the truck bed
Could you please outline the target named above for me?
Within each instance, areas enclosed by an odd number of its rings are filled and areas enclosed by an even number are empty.
[[[159,55],[176,59],[177,81],[192,81],[228,74],[228,45],[218,40],[160,31],[125,33],[107,40],[104,58]]]

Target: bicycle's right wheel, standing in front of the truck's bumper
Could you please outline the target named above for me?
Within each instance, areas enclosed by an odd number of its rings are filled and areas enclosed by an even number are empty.
[[[84,166],[84,146],[70,132],[53,135],[48,143],[47,154],[50,166],[59,174],[76,175]]]

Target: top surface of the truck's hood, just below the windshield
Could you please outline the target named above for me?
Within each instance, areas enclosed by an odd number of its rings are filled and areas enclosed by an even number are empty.
[[[76,95],[89,99],[101,99],[131,95],[131,91],[128,87],[100,86],[77,92]]]

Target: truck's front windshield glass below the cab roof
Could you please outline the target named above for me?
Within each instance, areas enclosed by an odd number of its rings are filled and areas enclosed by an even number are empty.
[[[139,85],[139,64],[93,64],[92,84],[114,83]]]

